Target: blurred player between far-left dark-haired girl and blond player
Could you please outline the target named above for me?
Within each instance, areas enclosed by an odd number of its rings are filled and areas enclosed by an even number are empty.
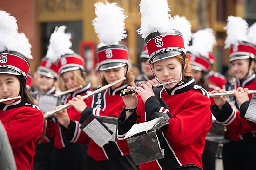
[[[37,85],[39,90],[36,95],[36,103],[38,104],[41,94],[54,95],[58,75],[58,67],[45,57],[41,60],[40,66],[37,68]],[[39,105],[40,106],[40,105]],[[52,152],[54,146],[54,118],[47,118],[46,134],[41,144],[36,146],[34,156],[34,170],[49,170],[52,162]]]

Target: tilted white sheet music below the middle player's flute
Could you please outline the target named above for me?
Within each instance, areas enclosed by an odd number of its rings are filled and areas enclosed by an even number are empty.
[[[112,138],[112,135],[96,118],[85,126],[82,131],[84,131],[88,137],[90,137],[101,148]]]

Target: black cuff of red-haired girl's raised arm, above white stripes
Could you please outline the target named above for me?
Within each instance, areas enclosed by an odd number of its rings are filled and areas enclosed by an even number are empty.
[[[158,112],[162,107],[156,96],[151,96],[145,102],[145,111],[151,117],[154,112]]]

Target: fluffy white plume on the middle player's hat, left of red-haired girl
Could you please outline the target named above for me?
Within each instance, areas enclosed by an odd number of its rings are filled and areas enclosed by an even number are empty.
[[[121,39],[127,37],[125,34],[124,10],[116,3],[106,4],[98,2],[94,4],[96,18],[92,21],[95,33],[98,34],[100,42],[105,45],[118,44]]]

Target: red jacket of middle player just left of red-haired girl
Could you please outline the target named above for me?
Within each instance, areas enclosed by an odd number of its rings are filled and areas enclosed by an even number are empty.
[[[105,144],[102,148],[99,147],[93,140],[90,140],[79,127],[90,114],[96,116],[118,117],[125,106],[122,97],[120,96],[120,92],[127,86],[128,85],[121,85],[114,90],[108,88],[95,94],[90,98],[91,104],[82,112],[80,120],[71,121],[69,124],[67,129],[67,139],[74,143],[89,144],[87,153],[96,161],[121,157],[123,155],[128,155],[129,153],[123,153],[116,142],[109,141],[108,144]]]

